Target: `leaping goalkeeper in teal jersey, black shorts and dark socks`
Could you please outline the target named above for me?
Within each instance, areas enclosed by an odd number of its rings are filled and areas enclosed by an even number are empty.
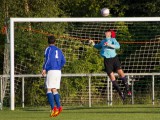
[[[114,72],[118,73],[125,86],[127,95],[131,96],[127,78],[125,77],[125,74],[121,68],[121,64],[116,53],[116,49],[120,48],[120,44],[115,39],[116,34],[113,30],[106,31],[105,36],[106,38],[103,39],[99,44],[95,44],[92,40],[89,42],[94,46],[94,48],[100,49],[100,55],[104,58],[105,71],[112,81],[113,88],[119,93],[122,100],[125,100],[125,94],[121,92],[114,75]]]

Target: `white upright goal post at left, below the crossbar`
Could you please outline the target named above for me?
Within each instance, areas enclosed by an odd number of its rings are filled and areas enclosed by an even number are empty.
[[[14,20],[10,19],[10,108],[15,109],[14,93]]]

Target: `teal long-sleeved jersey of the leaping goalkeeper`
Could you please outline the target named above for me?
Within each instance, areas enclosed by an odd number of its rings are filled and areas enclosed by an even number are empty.
[[[106,42],[111,46],[105,46]],[[117,55],[116,49],[120,48],[120,44],[115,38],[105,38],[99,44],[95,44],[94,47],[100,49],[100,55],[102,57],[113,58]]]

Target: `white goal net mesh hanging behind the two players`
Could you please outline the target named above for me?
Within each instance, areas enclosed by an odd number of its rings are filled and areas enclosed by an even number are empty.
[[[108,29],[116,31],[116,39],[121,44],[118,55],[125,73],[153,73],[160,71],[160,24],[159,22],[61,22],[61,23],[15,24],[15,74],[40,74],[47,35],[55,35],[56,46],[62,49],[67,60],[63,73],[104,73],[103,59],[99,51],[89,45],[89,40],[99,43]],[[28,29],[29,28],[29,29]],[[4,65],[5,66],[5,65]],[[118,79],[118,78],[117,78]],[[148,103],[150,96],[150,76],[133,76],[136,103]],[[156,77],[158,93],[159,77]],[[63,78],[61,87],[64,105],[86,105],[89,100],[88,81],[84,77]],[[121,89],[121,81],[119,81]],[[8,85],[8,82],[3,83]],[[21,103],[21,78],[15,79],[16,103]],[[25,79],[25,104],[46,105],[42,78]],[[92,77],[92,104],[106,104],[111,93],[107,89],[106,77]],[[5,88],[4,100],[9,105],[9,89]],[[141,89],[140,89],[141,88]],[[143,93],[143,95],[142,95]],[[158,94],[157,101],[158,101]],[[34,96],[34,97],[33,97]],[[35,97],[36,96],[36,97]],[[113,92],[113,102],[121,103]],[[144,100],[142,102],[142,99]],[[146,100],[146,101],[145,101]],[[148,101],[147,101],[148,100]],[[149,101],[151,102],[151,101]]]

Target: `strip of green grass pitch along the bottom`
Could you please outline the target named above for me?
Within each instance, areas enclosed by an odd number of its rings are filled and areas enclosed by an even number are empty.
[[[54,118],[49,109],[16,109],[0,111],[0,120],[160,120],[160,106],[124,105],[112,107],[68,108]]]

